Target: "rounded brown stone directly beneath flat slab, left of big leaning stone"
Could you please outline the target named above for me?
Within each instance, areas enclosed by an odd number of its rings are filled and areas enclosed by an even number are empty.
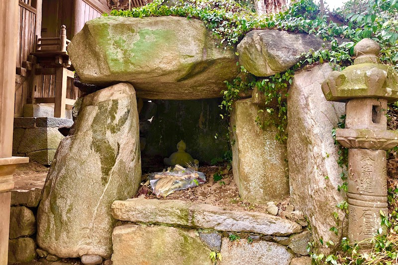
[[[9,238],[31,236],[36,232],[36,219],[33,212],[25,206],[11,207]]]

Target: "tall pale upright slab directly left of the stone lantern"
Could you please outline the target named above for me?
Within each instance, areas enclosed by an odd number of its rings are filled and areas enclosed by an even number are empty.
[[[342,185],[342,169],[337,164],[338,147],[332,137],[345,104],[327,102],[320,89],[320,83],[331,71],[331,66],[323,64],[297,72],[288,97],[291,199],[296,209],[308,217],[315,242],[320,238],[323,242],[339,242],[340,235],[329,229],[336,226],[333,212],[337,203],[345,200],[336,189]],[[343,220],[344,213],[337,212]]]

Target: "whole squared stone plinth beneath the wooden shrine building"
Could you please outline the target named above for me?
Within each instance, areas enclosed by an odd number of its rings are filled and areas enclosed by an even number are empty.
[[[62,118],[14,118],[12,155],[27,156],[30,162],[51,165],[64,138],[58,129],[72,125],[72,120]]]

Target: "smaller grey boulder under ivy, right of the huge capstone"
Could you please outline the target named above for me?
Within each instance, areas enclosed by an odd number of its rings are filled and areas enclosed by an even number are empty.
[[[294,66],[302,53],[319,50],[322,44],[311,34],[252,30],[238,44],[239,63],[256,76],[270,76]]]

